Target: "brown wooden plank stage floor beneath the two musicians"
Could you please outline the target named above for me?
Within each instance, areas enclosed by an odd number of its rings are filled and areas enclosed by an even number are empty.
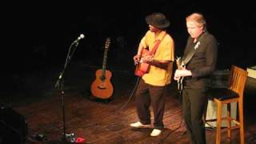
[[[86,143],[190,143],[182,122],[182,109],[175,82],[168,86],[166,93],[163,119],[165,129],[160,136],[153,138],[150,137],[151,128],[133,129],[129,126],[131,122],[138,121],[134,97],[130,98],[136,82],[132,72],[113,70],[114,97],[107,102],[90,98],[90,84],[94,81],[96,69],[78,65],[66,74],[66,133],[74,133],[76,138],[85,138]],[[64,126],[62,95],[54,88],[58,70],[26,74],[23,78],[29,79],[23,82],[25,86],[17,90],[14,98],[2,98],[2,103],[26,118],[29,126],[26,143],[66,143],[61,141]],[[26,88],[30,90],[25,90]],[[246,143],[256,143],[253,107],[251,100],[245,99]],[[43,134],[45,141],[34,138],[37,134]],[[231,134],[231,142],[227,142],[227,134],[222,133],[222,143],[239,143],[239,131],[234,130]],[[214,130],[206,130],[206,141],[215,142]]]

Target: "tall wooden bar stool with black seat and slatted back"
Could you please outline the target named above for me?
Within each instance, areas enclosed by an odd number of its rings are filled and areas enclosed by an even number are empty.
[[[227,130],[227,137],[230,140],[231,130],[240,129],[240,143],[244,143],[244,126],[243,126],[243,92],[246,86],[247,71],[238,66],[231,66],[228,78],[227,88],[215,88],[209,91],[209,96],[214,102],[217,102],[217,118],[206,119],[205,122],[217,122],[216,143],[221,143],[221,132]],[[238,103],[238,118],[231,118],[230,103]],[[226,104],[227,115],[222,118],[222,106]],[[228,122],[227,127],[222,129],[222,121]],[[231,122],[234,125],[231,126]]]

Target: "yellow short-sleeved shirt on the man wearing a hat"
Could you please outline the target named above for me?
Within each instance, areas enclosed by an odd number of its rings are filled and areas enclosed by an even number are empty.
[[[154,32],[150,30],[146,32],[145,36],[141,40],[141,45],[143,47],[149,47],[149,50],[154,48],[155,43],[158,39],[162,39],[162,37],[166,34],[166,31],[162,31],[155,38]],[[148,74],[144,74],[142,79],[153,86],[166,86],[171,82],[171,75],[173,70],[173,62],[174,62],[174,40],[170,37],[169,34],[162,39],[158,46],[158,50],[156,50],[154,54],[155,60],[166,60],[172,61],[170,62],[168,69],[163,70],[156,66],[150,66],[150,71]]]

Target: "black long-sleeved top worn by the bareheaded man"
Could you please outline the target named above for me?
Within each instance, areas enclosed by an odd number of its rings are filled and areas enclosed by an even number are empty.
[[[217,62],[218,44],[216,39],[209,32],[202,33],[198,42],[193,42],[193,38],[188,38],[182,59],[186,58],[190,50],[198,45],[195,54],[186,64],[186,69],[191,70],[192,76],[185,77],[185,88],[205,88],[209,82],[210,74],[213,74]]]

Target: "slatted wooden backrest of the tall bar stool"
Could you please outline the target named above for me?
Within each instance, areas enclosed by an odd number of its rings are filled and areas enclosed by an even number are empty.
[[[243,91],[246,86],[248,72],[238,66],[231,66],[230,76],[228,78],[228,87],[239,94],[239,98],[243,98]]]

